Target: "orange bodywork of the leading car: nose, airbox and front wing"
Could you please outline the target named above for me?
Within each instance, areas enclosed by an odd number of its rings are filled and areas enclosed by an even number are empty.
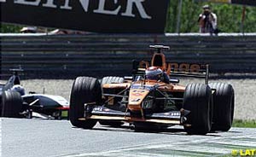
[[[149,65],[148,61],[140,61],[139,62],[139,68],[147,69],[148,67],[159,67],[163,72],[170,75],[171,70],[166,69],[167,63],[166,63],[166,56],[163,53],[154,53],[152,60]],[[171,67],[169,67],[171,68]],[[148,94],[151,92],[151,89],[157,89],[161,92],[184,92],[185,86],[179,85],[179,84],[166,84],[164,82],[159,82],[157,80],[138,80],[137,82],[125,82],[120,84],[103,84],[102,86],[103,90],[107,89],[119,89],[119,90],[129,90],[129,96],[128,96],[128,104],[127,104],[127,110],[130,111],[141,111],[143,114],[143,101],[148,96]],[[122,92],[122,91],[121,91]],[[142,116],[143,117],[143,116]],[[148,122],[154,122],[154,123],[166,123],[166,124],[180,124],[179,119],[142,119],[142,118],[135,118],[135,117],[122,117],[122,116],[99,116],[94,115],[91,117],[92,119],[116,119],[116,120],[125,120],[125,121],[147,121]]]

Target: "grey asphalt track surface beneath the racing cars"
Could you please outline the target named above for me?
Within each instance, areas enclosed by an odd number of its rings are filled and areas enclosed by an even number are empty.
[[[256,129],[189,136],[179,126],[135,132],[129,125],[83,130],[67,120],[1,119],[0,123],[3,157],[230,156],[233,149],[256,148]]]

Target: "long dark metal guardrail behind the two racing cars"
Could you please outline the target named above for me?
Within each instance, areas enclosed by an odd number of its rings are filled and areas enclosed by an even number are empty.
[[[131,73],[150,60],[149,44],[165,44],[167,61],[210,64],[212,73],[256,73],[256,34],[0,34],[1,72],[22,67],[26,78],[102,77]]]

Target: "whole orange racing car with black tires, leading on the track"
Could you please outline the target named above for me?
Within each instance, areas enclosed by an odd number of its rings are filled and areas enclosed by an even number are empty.
[[[132,77],[76,78],[70,100],[72,125],[91,129],[128,122],[135,130],[163,129],[183,125],[189,134],[229,131],[234,116],[233,87],[208,84],[208,65],[168,63],[156,49],[151,61],[133,61]],[[204,84],[179,84],[174,77],[205,78]]]

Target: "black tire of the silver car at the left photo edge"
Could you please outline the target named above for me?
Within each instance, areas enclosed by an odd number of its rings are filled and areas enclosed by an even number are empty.
[[[22,118],[22,98],[15,91],[4,91],[2,97],[2,116],[9,118]]]

